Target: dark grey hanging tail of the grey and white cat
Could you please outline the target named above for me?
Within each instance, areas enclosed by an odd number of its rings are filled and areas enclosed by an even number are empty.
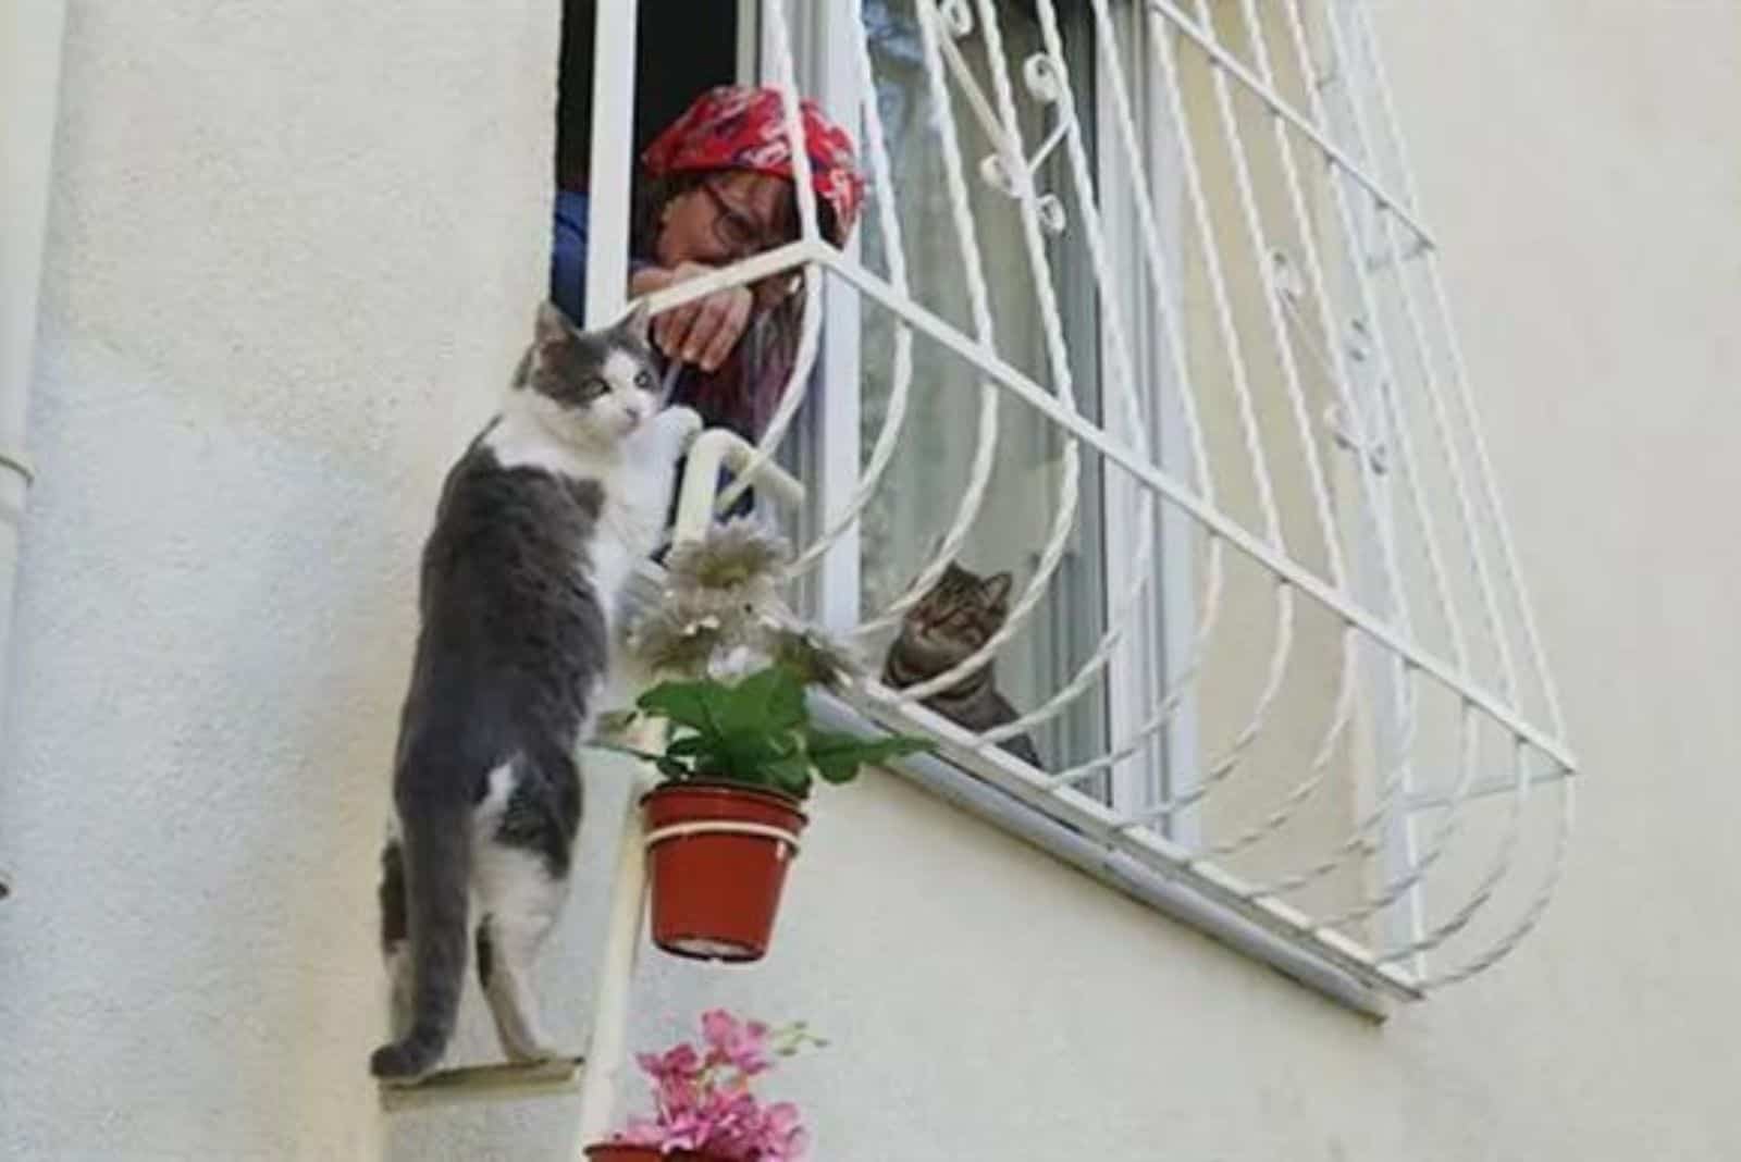
[[[451,800],[451,802],[449,802]],[[381,1045],[369,1072],[381,1079],[414,1080],[435,1068],[447,1051],[460,1012],[468,952],[468,891],[472,882],[472,809],[458,795],[439,802],[406,802],[406,920],[411,943],[411,1026]]]

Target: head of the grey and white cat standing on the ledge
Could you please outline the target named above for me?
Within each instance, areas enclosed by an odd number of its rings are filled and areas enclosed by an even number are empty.
[[[658,411],[656,384],[646,308],[601,331],[580,331],[548,303],[538,308],[522,386],[554,431],[616,442]]]

